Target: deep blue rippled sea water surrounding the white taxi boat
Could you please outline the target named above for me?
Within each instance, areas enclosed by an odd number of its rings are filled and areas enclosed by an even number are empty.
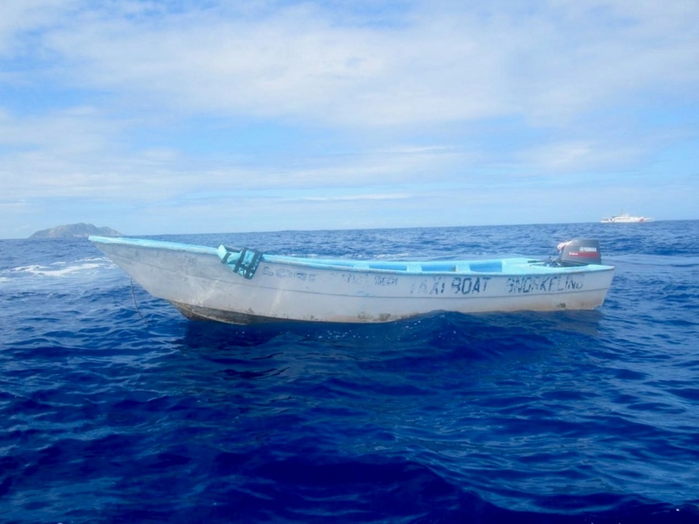
[[[2,522],[699,522],[699,221],[168,235],[385,259],[598,238],[594,312],[185,320],[0,240]],[[135,299],[135,304],[134,304]]]

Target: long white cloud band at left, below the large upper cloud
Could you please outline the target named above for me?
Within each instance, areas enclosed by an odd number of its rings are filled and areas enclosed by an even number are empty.
[[[454,168],[468,157],[453,148],[418,147],[356,152],[339,159],[301,155],[294,161],[240,165],[235,157],[203,160],[170,149],[128,152],[110,142],[113,133],[100,131],[102,121],[93,122],[90,115],[0,122],[0,136],[15,129],[19,135],[13,140],[24,145],[1,158],[5,196],[166,201],[200,194],[210,198],[250,191],[385,187],[416,177],[437,183],[449,180],[449,166]]]

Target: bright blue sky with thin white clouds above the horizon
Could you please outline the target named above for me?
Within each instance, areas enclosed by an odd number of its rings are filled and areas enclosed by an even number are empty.
[[[0,238],[699,219],[696,0],[2,0]]]

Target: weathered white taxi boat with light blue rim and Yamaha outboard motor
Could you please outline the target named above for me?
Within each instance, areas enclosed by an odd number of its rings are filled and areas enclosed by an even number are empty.
[[[89,237],[152,296],[187,319],[380,323],[435,311],[592,310],[614,266],[597,240],[562,242],[549,260],[319,259],[143,238]]]

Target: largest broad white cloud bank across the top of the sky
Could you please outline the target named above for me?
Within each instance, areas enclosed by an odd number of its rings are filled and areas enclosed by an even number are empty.
[[[392,26],[343,24],[322,3],[248,16],[224,3],[140,16],[89,5],[46,32],[45,52],[64,64],[53,74],[185,113],[348,126],[514,114],[548,125],[699,78],[696,2],[406,3]]]

